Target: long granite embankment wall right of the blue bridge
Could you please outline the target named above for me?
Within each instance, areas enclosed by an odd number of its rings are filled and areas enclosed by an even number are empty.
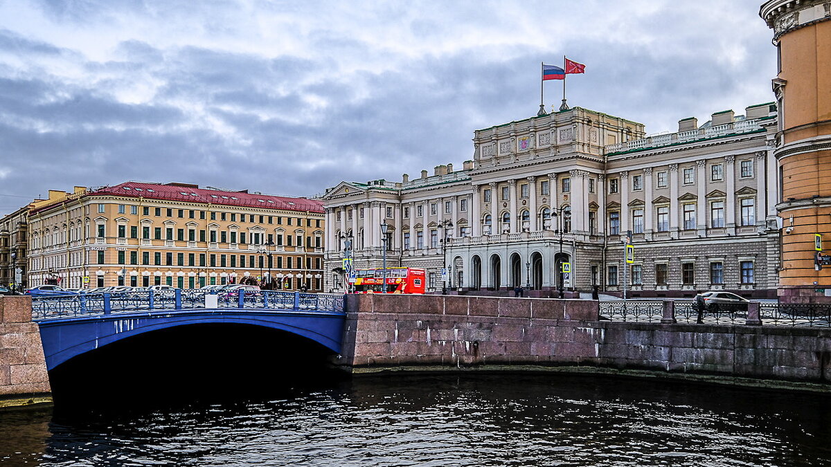
[[[347,298],[342,363],[590,366],[831,381],[831,330],[598,321],[594,301],[464,296]],[[829,386],[831,388],[831,386]]]

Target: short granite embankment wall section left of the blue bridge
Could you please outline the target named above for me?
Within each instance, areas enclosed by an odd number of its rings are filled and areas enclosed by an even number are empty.
[[[32,298],[0,296],[0,407],[51,401]]]

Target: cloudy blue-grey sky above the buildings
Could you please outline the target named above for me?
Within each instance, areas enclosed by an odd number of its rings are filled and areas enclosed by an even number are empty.
[[[570,106],[647,125],[773,101],[760,0],[0,0],[0,215],[127,180],[313,196],[472,159]],[[550,111],[562,99],[547,81]]]

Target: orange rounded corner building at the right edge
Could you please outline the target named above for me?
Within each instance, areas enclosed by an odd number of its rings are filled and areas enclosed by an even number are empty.
[[[817,234],[826,251],[831,243],[831,3],[770,0],[760,16],[774,30],[779,57],[773,80],[780,109],[777,209],[784,221],[779,297],[831,302],[831,266],[822,268],[814,248]]]

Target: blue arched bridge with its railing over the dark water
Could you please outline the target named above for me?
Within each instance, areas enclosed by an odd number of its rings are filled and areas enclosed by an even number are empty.
[[[73,356],[168,327],[229,323],[270,327],[341,350],[344,296],[301,292],[199,290],[32,297],[47,370]]]

